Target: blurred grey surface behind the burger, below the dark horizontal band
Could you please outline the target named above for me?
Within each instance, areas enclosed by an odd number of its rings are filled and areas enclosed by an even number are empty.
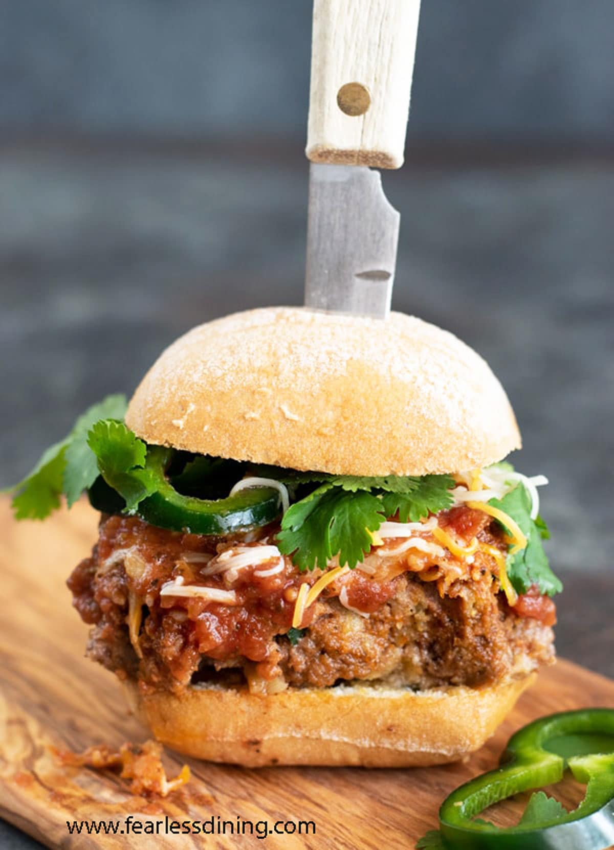
[[[236,309],[300,303],[307,167],[89,143],[0,157],[0,424],[9,484],[103,394],[131,393],[163,346]],[[559,570],[611,564],[614,167],[410,161],[393,305],[492,365],[545,473]],[[360,391],[357,388],[357,391]]]

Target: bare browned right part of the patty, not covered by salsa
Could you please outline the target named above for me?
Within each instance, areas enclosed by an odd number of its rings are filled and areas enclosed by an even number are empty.
[[[552,629],[517,617],[482,583],[456,598],[441,598],[415,575],[395,585],[394,598],[368,620],[329,600],[304,638],[285,644],[280,666],[287,682],[325,687],[394,677],[420,689],[480,685],[554,657]]]

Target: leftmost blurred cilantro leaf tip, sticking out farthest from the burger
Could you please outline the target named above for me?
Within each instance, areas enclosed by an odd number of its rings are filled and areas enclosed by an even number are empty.
[[[15,519],[45,519],[60,507],[62,473],[68,439],[49,446],[27,478],[11,487]]]

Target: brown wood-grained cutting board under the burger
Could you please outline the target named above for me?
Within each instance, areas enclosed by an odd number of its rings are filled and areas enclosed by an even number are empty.
[[[270,835],[266,847],[412,847],[435,828],[442,799],[461,782],[492,768],[505,741],[524,723],[552,711],[614,706],[614,682],[560,660],[538,677],[483,750],[463,764],[413,770],[262,768],[245,770],[189,761],[193,779],[152,804],[128,794],[114,774],[63,768],[49,745],[81,751],[105,742],[143,741],[115,677],[83,655],[87,626],[71,609],[65,578],[94,542],[96,515],[84,502],[44,524],[14,523],[0,501],[0,815],[48,847],[262,847],[253,836],[70,835],[66,821],[128,814],[169,819],[312,821],[315,836]],[[175,775],[184,759],[168,753]],[[557,796],[577,802],[570,783]],[[511,823],[522,802],[498,816]],[[227,829],[229,829],[227,827]],[[248,827],[247,827],[248,829]],[[262,829],[262,827],[260,827]],[[298,827],[297,827],[298,829]],[[254,826],[254,830],[256,827]]]

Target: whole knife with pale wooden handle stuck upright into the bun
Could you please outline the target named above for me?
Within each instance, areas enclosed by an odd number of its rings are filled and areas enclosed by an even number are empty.
[[[403,164],[420,0],[314,0],[305,306],[385,319],[401,216],[377,168]]]

